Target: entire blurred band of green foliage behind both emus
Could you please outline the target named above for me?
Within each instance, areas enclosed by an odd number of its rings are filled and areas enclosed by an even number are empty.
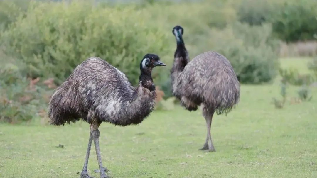
[[[278,58],[317,54],[315,0],[3,0],[0,120],[45,115],[54,87],[91,56],[107,60],[135,85],[142,57],[159,54],[167,67],[154,69],[153,78],[162,98],[170,98],[175,25],[184,27],[191,59],[205,51],[219,52],[230,60],[240,83],[270,82],[279,72],[296,78],[296,72],[280,70]],[[314,61],[310,67],[315,73],[316,65]]]

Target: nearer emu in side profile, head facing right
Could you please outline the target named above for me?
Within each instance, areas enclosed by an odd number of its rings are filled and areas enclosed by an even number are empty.
[[[153,110],[156,93],[151,73],[155,66],[165,64],[159,61],[158,55],[146,54],[140,64],[139,86],[134,88],[120,70],[100,58],[89,58],[56,89],[49,102],[50,123],[64,125],[82,118],[90,124],[82,178],[90,178],[87,164],[92,140],[100,177],[107,177],[99,149],[98,127],[101,122],[122,126],[139,124]]]

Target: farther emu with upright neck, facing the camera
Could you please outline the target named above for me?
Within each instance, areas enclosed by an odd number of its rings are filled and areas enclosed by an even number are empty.
[[[210,136],[212,116],[214,112],[228,113],[238,103],[239,81],[229,60],[221,54],[205,52],[190,61],[182,38],[184,29],[175,26],[172,32],[177,42],[171,69],[173,95],[189,111],[203,105],[207,137],[202,150],[215,151]]]

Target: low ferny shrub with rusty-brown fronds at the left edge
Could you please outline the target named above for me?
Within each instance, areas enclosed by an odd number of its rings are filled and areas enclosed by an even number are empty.
[[[2,74],[2,73],[1,73]],[[30,87],[30,80],[21,77],[16,84],[6,85],[0,79],[0,121],[20,123],[39,117],[46,111],[52,89],[44,85]],[[42,116],[45,117],[45,116]]]

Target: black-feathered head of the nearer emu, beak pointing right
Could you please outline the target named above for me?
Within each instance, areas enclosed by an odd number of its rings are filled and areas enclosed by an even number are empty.
[[[141,71],[152,71],[152,68],[156,66],[166,66],[159,60],[159,56],[156,54],[146,54],[140,64]]]

